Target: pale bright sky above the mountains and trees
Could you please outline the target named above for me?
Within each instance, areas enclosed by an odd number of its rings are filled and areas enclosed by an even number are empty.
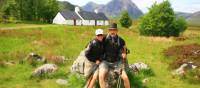
[[[111,0],[59,0],[59,1],[68,1],[72,4],[84,6],[88,2],[92,1],[97,4],[107,4]],[[163,0],[132,0],[142,12],[148,12],[148,8],[156,1],[157,3],[162,2]],[[200,0],[169,0],[172,4],[172,7],[177,12],[188,12],[194,13],[200,11]]]

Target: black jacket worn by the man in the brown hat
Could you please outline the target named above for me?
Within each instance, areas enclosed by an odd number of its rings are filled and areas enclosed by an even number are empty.
[[[121,54],[125,46],[125,41],[116,36],[112,38],[110,35],[107,35],[104,38],[104,60],[108,62],[117,62],[121,59]]]

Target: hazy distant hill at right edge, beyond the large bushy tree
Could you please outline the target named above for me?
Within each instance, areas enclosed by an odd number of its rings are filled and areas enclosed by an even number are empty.
[[[200,11],[193,13],[187,18],[187,22],[191,26],[200,26]]]

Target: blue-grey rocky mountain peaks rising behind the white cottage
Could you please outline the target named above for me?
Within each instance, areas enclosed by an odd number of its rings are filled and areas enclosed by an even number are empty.
[[[121,12],[127,10],[132,18],[138,18],[143,15],[142,11],[131,0],[112,0],[106,5],[98,5],[89,2],[82,7],[86,11],[94,11],[98,9],[99,12],[105,13],[108,17],[119,17]]]

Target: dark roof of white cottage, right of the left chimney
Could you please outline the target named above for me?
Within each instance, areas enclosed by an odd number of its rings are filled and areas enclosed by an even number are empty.
[[[79,14],[85,20],[108,20],[104,13],[96,14],[94,12],[81,11]]]

